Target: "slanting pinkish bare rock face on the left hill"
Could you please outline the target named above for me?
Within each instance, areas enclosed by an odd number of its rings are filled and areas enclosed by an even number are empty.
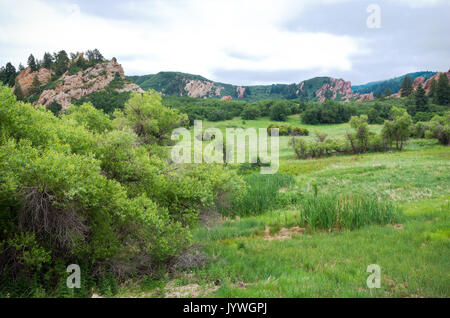
[[[53,102],[61,104],[62,111],[72,103],[72,99],[80,99],[83,96],[97,92],[114,79],[116,74],[125,79],[123,68],[116,59],[100,63],[79,71],[77,74],[64,73],[58,80],[54,89],[45,90],[35,104],[48,106]],[[144,92],[134,83],[126,83],[124,87],[116,89],[118,92]]]

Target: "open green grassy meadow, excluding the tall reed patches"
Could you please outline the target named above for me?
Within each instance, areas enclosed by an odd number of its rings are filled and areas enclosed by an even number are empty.
[[[343,136],[347,124],[306,126]],[[268,119],[204,123],[205,127],[261,127]],[[379,131],[381,126],[371,126]],[[312,136],[308,137],[312,138]],[[411,140],[402,152],[297,160],[282,137],[279,189],[292,200],[259,215],[219,217],[194,232],[207,261],[163,279],[129,282],[119,296],[138,297],[449,297],[450,149]],[[370,196],[399,211],[387,224],[312,229],[296,195]],[[366,285],[367,266],[381,268],[381,288]]]

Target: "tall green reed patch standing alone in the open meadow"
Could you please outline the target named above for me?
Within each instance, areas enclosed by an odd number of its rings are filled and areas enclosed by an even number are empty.
[[[301,222],[312,229],[358,229],[399,220],[397,207],[374,195],[308,195],[301,202]]]

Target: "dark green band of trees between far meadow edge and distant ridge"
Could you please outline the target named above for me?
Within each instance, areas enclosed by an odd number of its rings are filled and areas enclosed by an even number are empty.
[[[352,116],[359,115],[367,115],[369,124],[382,124],[389,119],[393,106],[405,108],[414,122],[428,121],[448,110],[450,86],[444,73],[441,73],[438,81],[432,81],[428,94],[422,85],[414,89],[412,84],[411,78],[405,76],[401,84],[402,98],[388,98],[391,95],[388,89],[384,94],[378,94],[376,100],[365,102],[341,103],[326,100],[317,103],[279,99],[246,102],[165,96],[163,103],[187,114],[190,123],[195,119],[221,121],[236,116],[244,120],[268,116],[271,120],[285,121],[289,115],[301,114],[302,122],[310,125],[346,123]],[[275,85],[272,90],[278,92],[286,87]]]

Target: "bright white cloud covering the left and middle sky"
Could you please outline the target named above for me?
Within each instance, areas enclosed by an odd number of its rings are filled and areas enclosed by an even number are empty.
[[[131,20],[94,16],[84,12],[82,5],[67,2],[1,1],[0,62],[11,60],[17,65],[26,62],[29,53],[41,57],[45,51],[99,48],[107,57],[118,57],[127,74],[176,70],[211,76],[215,69],[351,70],[352,57],[365,52],[361,39],[290,32],[281,27],[308,3],[313,2],[119,4],[124,15],[136,16]]]

